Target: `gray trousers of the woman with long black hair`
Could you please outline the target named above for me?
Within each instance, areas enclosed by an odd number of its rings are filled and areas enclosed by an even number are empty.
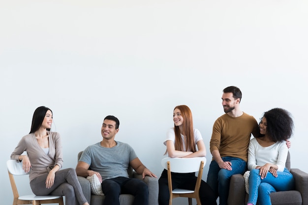
[[[65,196],[65,205],[82,205],[87,202],[75,169],[68,168],[59,170],[55,174],[55,182],[51,188],[46,188],[48,174],[32,179],[30,186],[35,195],[59,195]]]

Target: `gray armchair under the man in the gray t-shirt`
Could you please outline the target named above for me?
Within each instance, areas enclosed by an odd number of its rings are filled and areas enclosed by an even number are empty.
[[[81,156],[82,152],[78,154],[78,160]],[[142,179],[142,175],[138,175],[133,169],[130,167],[128,170],[128,174],[132,178],[141,179],[148,184],[149,187],[149,205],[158,205],[158,179],[154,177],[146,176],[145,179]],[[105,196],[93,195],[91,194],[90,182],[88,179],[84,177],[78,176],[78,180],[80,182],[82,191],[91,205],[102,205],[105,199]],[[129,194],[121,194],[120,195],[120,205],[132,205],[134,200],[133,195]]]

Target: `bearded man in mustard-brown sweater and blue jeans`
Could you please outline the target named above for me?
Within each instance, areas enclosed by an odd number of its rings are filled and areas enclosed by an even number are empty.
[[[216,197],[219,196],[219,205],[227,205],[230,178],[234,174],[244,174],[251,133],[257,137],[259,127],[254,117],[241,111],[242,92],[238,87],[225,88],[221,99],[225,114],[213,126],[210,141],[213,160],[207,183]]]

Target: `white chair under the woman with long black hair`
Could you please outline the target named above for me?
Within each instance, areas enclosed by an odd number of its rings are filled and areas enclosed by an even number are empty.
[[[62,196],[36,196],[36,195],[27,195],[27,196],[19,196],[17,187],[15,184],[14,175],[29,175],[25,173],[23,170],[23,163],[18,162],[17,160],[8,160],[6,162],[8,176],[10,178],[12,191],[13,191],[13,205],[41,205],[41,204],[59,204],[63,205],[63,197]]]

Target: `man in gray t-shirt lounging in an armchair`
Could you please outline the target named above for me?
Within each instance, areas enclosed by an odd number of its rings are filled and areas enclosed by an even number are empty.
[[[134,195],[134,205],[148,205],[149,191],[145,182],[128,177],[130,165],[138,174],[156,176],[147,169],[135,151],[126,143],[115,141],[120,122],[114,116],[104,119],[101,135],[103,140],[86,148],[76,167],[78,176],[96,175],[102,182],[104,205],[120,205],[120,194]],[[90,168],[90,169],[89,169]]]

